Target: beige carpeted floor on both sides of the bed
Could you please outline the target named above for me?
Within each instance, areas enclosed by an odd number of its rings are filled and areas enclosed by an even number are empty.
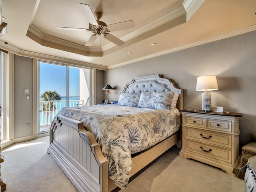
[[[14,144],[2,150],[1,174],[6,192],[76,192],[52,156],[49,137]],[[244,192],[245,182],[226,172],[178,156],[172,147],[120,192]],[[116,190],[118,191],[118,190]]]

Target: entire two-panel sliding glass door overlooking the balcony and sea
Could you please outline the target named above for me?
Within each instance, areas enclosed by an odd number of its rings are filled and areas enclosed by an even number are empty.
[[[90,79],[91,69],[39,62],[39,134],[63,107],[90,105]]]

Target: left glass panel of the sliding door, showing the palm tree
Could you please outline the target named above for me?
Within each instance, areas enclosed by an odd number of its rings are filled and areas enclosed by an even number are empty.
[[[49,131],[54,116],[67,106],[67,66],[39,64],[39,132]]]

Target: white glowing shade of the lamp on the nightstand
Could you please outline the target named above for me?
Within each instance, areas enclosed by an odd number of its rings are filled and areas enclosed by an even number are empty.
[[[206,75],[197,78],[197,91],[214,91],[218,90],[217,78],[215,75]]]

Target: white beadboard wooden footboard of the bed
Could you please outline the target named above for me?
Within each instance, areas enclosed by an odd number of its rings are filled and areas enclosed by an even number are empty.
[[[108,191],[108,160],[82,122],[58,116],[50,128],[48,153],[78,191]]]

